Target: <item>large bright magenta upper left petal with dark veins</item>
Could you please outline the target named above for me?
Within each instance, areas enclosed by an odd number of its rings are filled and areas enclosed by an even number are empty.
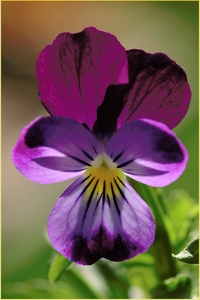
[[[115,36],[88,27],[59,34],[40,53],[36,75],[40,99],[52,115],[91,129],[107,87],[128,82],[127,55]]]

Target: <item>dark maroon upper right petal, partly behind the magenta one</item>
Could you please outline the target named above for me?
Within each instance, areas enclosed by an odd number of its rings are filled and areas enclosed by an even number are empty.
[[[129,83],[109,86],[98,108],[94,132],[110,137],[116,128],[147,118],[176,127],[186,115],[191,90],[184,70],[163,53],[127,51]]]

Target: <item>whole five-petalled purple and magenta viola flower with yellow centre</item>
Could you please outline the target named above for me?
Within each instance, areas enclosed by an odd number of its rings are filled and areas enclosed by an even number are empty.
[[[23,129],[13,161],[38,183],[76,178],[49,216],[53,247],[82,265],[147,251],[154,220],[126,176],[162,187],[184,171],[187,151],[170,129],[189,107],[185,72],[165,54],[126,51],[89,27],[59,34],[36,75],[51,116]]]

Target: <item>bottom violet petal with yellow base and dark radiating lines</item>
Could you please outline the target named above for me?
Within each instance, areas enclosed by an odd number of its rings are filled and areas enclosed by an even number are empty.
[[[99,179],[99,181],[98,181]],[[48,220],[53,247],[69,260],[91,265],[104,257],[123,261],[147,251],[155,225],[147,204],[120,178],[77,179]]]

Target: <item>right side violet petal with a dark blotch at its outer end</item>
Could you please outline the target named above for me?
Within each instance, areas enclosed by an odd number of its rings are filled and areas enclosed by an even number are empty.
[[[124,125],[105,151],[127,176],[157,187],[175,181],[188,160],[187,150],[166,125],[145,119]]]

